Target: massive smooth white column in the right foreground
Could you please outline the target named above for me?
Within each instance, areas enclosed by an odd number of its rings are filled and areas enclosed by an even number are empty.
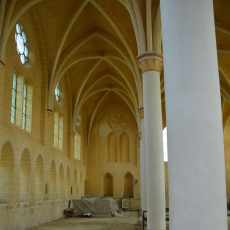
[[[213,2],[161,0],[170,230],[227,230]]]

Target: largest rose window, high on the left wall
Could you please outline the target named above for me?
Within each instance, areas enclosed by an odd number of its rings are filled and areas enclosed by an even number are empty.
[[[29,61],[29,42],[23,26],[16,23],[15,42],[20,61],[23,65]]]

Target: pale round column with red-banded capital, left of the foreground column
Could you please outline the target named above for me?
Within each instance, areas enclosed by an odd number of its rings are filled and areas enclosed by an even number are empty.
[[[138,57],[143,78],[144,145],[147,184],[147,229],[165,229],[165,178],[162,137],[160,70],[162,55]]]

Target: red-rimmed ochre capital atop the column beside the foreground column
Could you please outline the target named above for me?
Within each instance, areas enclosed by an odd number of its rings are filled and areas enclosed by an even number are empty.
[[[150,70],[160,72],[163,67],[163,55],[159,53],[144,53],[137,57],[142,73]]]

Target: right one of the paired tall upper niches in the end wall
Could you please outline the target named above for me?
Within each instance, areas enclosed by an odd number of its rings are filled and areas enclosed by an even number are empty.
[[[120,135],[119,150],[119,161],[129,162],[129,137],[126,133]]]

